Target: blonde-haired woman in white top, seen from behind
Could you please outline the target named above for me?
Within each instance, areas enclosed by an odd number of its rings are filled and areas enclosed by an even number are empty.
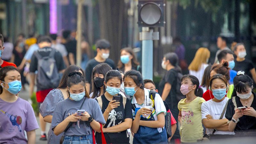
[[[210,58],[210,51],[207,48],[201,47],[196,51],[196,55],[190,65],[188,66],[189,74],[196,76],[199,84],[202,83],[204,70],[208,66]]]

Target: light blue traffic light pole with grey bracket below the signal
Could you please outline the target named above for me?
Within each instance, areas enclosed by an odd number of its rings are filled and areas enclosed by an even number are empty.
[[[159,40],[159,33],[153,29],[142,27],[140,32],[142,41],[142,76],[143,79],[153,80],[153,40]]]

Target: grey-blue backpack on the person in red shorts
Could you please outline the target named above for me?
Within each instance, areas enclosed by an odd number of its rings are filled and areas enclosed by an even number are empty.
[[[52,50],[49,56],[42,57],[38,51],[35,56],[37,58],[37,76],[36,86],[41,90],[57,88],[60,82],[59,71],[54,59],[55,50]]]

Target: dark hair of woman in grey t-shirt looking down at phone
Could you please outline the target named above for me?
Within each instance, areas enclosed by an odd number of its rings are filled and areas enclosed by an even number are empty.
[[[68,74],[68,78],[67,78],[68,87],[71,87],[72,85],[75,85],[75,84],[82,84],[85,89],[85,96],[87,98],[90,98],[88,92],[86,91],[85,78],[80,72],[77,72],[77,71]],[[70,92],[68,92],[68,97],[70,97]]]

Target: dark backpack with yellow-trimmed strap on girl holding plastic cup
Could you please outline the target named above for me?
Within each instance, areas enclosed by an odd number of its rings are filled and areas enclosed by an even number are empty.
[[[149,98],[153,101],[153,108],[155,107],[155,97],[156,97],[156,91],[150,90],[149,91]],[[132,99],[131,99],[132,100]],[[164,101],[164,106],[166,108],[166,115],[164,116],[165,124],[164,127],[166,129],[167,138],[170,138],[172,136],[172,124],[171,124],[171,111],[169,109],[169,106],[167,102]],[[135,111],[135,104],[132,104],[132,110]]]

